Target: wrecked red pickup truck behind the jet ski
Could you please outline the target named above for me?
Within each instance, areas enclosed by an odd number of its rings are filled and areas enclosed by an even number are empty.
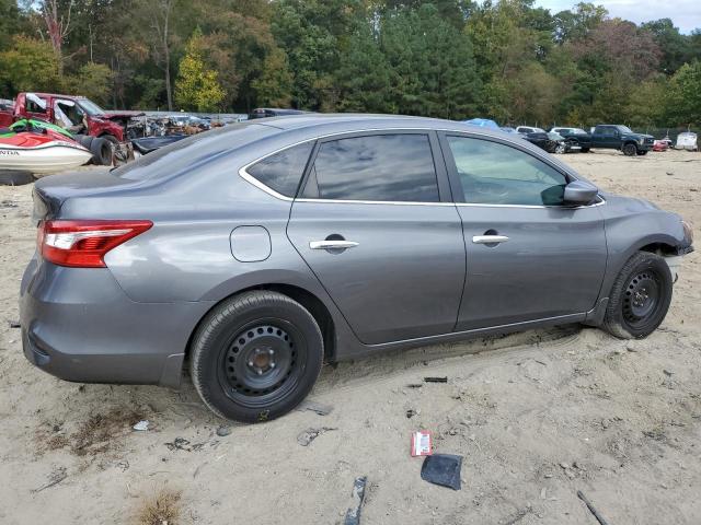
[[[133,158],[127,125],[131,118],[141,115],[143,113],[105,112],[84,96],[20,93],[11,108],[7,105],[0,107],[0,128],[22,118],[46,120],[79,137],[101,137],[112,147],[113,153],[119,152],[118,156],[126,160]],[[90,149],[90,145],[83,145]]]

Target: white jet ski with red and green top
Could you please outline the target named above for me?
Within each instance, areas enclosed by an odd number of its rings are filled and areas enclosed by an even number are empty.
[[[67,132],[48,127],[15,122],[0,129],[0,171],[55,173],[85,164],[92,158]],[[61,130],[64,131],[64,130]]]

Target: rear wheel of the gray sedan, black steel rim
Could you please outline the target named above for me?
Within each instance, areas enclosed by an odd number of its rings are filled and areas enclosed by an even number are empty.
[[[253,423],[299,405],[319,376],[323,354],[319,325],[301,304],[257,290],[207,314],[191,343],[189,369],[212,412]]]

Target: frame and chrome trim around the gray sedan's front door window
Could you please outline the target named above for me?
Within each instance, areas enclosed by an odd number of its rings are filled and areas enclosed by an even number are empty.
[[[497,144],[507,145],[507,147],[514,148],[514,149],[516,149],[516,150],[518,150],[518,151],[520,151],[522,153],[526,153],[526,154],[532,156],[533,159],[536,159],[538,161],[543,162],[544,164],[547,164],[548,166],[550,166],[551,168],[553,168],[554,171],[560,173],[563,177],[565,177],[567,183],[576,180],[576,177],[573,176],[572,174],[563,171],[560,166],[549,162],[548,159],[541,158],[539,155],[535,155],[528,149],[520,148],[518,144],[515,144],[514,142],[506,141],[506,140],[499,140],[498,138],[495,138],[495,137],[486,137],[486,136],[483,136],[483,135],[475,135],[475,133],[470,133],[470,132],[439,131],[438,132],[438,139],[440,141],[440,149],[443,151],[443,154],[444,154],[445,161],[446,161],[448,178],[450,180],[450,188],[452,190],[452,195],[456,196],[456,198],[455,198],[456,206],[459,206],[459,207],[475,207],[475,208],[533,208],[533,209],[555,208],[555,209],[573,210],[573,209],[578,209],[578,208],[591,208],[591,207],[595,207],[595,206],[601,206],[601,205],[606,203],[606,200],[601,196],[597,196],[596,201],[590,203],[590,205],[576,206],[576,207],[568,207],[568,206],[561,206],[561,205],[556,205],[556,206],[552,206],[552,205],[492,205],[492,203],[466,202],[464,191],[463,191],[463,188],[462,188],[462,183],[460,182],[460,177],[458,175],[457,164],[456,164],[455,158],[452,155],[452,150],[450,149],[450,145],[448,144],[448,137],[459,137],[459,138],[461,137],[461,138],[466,138],[466,139],[484,140],[484,141],[487,141],[487,142],[494,142],[494,143],[497,143]]]

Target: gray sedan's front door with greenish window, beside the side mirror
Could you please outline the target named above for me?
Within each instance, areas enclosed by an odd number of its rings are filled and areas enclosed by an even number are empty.
[[[600,199],[563,203],[570,176],[515,144],[445,135],[468,272],[457,330],[582,314],[606,269]]]

